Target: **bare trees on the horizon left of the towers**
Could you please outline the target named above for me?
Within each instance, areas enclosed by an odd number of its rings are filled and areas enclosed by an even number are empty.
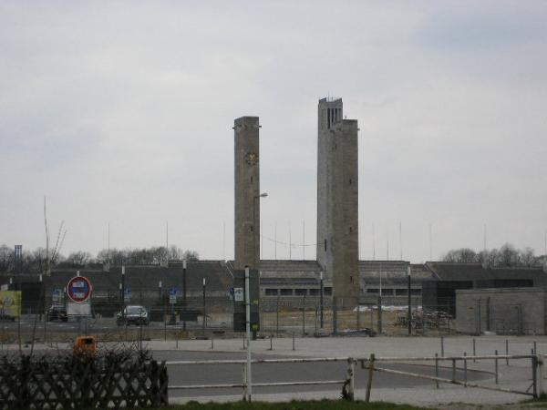
[[[131,265],[150,265],[160,264],[161,261],[182,260],[199,261],[200,254],[197,251],[182,250],[176,245],[170,245],[169,249],[165,246],[152,246],[150,248],[136,249],[103,249],[93,255],[88,251],[73,251],[67,256],[62,254],[47,255],[45,248],[36,248],[33,251],[23,250],[22,261],[15,266],[15,251],[7,245],[0,246],[0,272],[13,272],[19,269],[22,272],[45,272],[47,259],[49,266],[54,268],[78,268],[93,264],[110,263],[112,265],[131,264]]]

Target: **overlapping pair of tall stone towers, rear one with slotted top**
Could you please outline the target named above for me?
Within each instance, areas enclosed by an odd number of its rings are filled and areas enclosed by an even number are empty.
[[[358,128],[343,118],[342,98],[319,100],[317,261],[338,306],[349,307],[359,295]]]

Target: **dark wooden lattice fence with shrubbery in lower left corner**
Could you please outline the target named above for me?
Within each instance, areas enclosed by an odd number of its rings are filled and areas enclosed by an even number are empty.
[[[168,385],[164,362],[5,362],[0,409],[159,407],[169,404]]]

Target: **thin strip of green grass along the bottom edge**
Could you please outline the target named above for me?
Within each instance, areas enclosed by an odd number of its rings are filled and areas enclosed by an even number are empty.
[[[200,404],[189,402],[185,405],[170,406],[172,410],[417,410],[425,408],[414,405],[394,405],[385,402],[365,403],[361,401],[349,402],[346,400],[294,400],[287,403],[234,402]]]

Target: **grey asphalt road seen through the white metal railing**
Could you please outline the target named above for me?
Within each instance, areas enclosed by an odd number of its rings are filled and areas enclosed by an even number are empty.
[[[181,351],[156,351],[153,352],[156,360],[244,360],[245,353],[207,353],[207,352],[181,352]],[[287,358],[288,356],[274,356],[253,354],[253,359]],[[428,365],[414,364],[383,364],[383,367],[397,369],[406,372],[435,375],[435,368]],[[238,384],[242,381],[241,364],[215,364],[215,365],[173,365],[169,366],[170,385],[183,384]],[[367,371],[356,365],[356,388],[366,388]],[[450,378],[451,368],[440,368],[439,376]],[[253,383],[267,382],[294,382],[294,381],[318,381],[318,380],[343,380],[346,377],[346,363],[324,362],[306,364],[253,364]],[[463,380],[463,371],[458,370],[457,379]],[[490,378],[491,374],[485,372],[468,372],[469,381]],[[396,374],[374,374],[373,385],[375,387],[405,388],[420,385],[432,385],[434,382],[411,378]],[[297,385],[282,387],[257,387],[254,393],[276,394],[314,391],[340,391],[341,384],[324,385]],[[172,397],[192,397],[203,395],[242,395],[241,388],[230,389],[191,389],[170,390]]]

